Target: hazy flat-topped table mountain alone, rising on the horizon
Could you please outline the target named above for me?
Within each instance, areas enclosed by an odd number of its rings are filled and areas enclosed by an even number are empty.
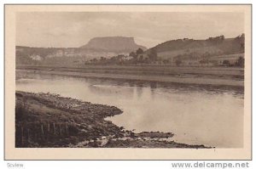
[[[133,37],[95,37],[81,48],[113,53],[130,53],[137,48],[146,49],[137,45]]]

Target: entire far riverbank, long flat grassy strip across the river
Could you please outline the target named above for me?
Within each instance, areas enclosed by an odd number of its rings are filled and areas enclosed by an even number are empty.
[[[215,87],[244,87],[244,70],[242,68],[98,65],[72,68],[17,65],[16,71],[59,76],[211,85]]]

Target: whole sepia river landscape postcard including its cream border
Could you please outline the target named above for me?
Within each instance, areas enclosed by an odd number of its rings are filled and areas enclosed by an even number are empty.
[[[20,155],[251,158],[250,5],[7,5],[5,16],[5,142]]]

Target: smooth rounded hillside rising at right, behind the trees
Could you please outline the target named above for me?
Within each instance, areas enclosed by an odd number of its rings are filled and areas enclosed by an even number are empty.
[[[204,59],[224,54],[244,53],[244,34],[235,38],[209,37],[206,40],[177,39],[149,48],[145,54],[154,51],[160,59]]]

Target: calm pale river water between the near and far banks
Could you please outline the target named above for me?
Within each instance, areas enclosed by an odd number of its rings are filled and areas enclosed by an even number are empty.
[[[172,140],[178,143],[243,146],[243,94],[236,90],[20,72],[16,90],[114,105],[124,111],[107,118],[117,126],[134,132],[173,132]]]

